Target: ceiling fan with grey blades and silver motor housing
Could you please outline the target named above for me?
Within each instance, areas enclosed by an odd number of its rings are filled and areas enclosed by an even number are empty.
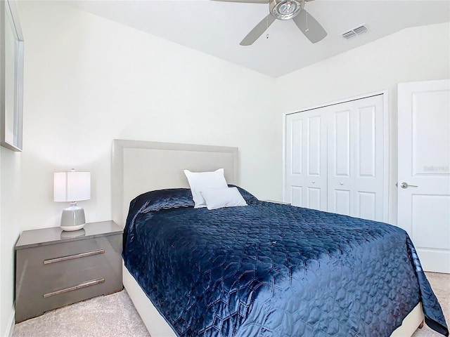
[[[241,46],[250,46],[269,26],[278,20],[293,19],[295,25],[313,44],[326,37],[326,31],[314,17],[304,10],[304,4],[313,0],[213,0],[241,2],[245,4],[269,4],[269,14],[262,19],[242,41]]]

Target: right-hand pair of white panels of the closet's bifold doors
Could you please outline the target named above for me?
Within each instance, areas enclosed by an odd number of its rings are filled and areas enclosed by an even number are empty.
[[[383,95],[328,107],[328,211],[383,221]]]

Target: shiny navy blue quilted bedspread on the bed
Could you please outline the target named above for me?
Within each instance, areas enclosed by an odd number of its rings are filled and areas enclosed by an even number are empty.
[[[404,230],[240,191],[213,211],[188,189],[131,201],[124,263],[178,336],[390,336],[419,301],[449,336]]]

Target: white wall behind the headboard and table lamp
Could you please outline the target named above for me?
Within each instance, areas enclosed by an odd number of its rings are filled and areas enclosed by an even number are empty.
[[[114,138],[238,146],[240,182],[273,197],[274,80],[49,1],[20,2],[25,36],[23,228],[57,226],[53,172],[91,171],[87,221],[111,218]],[[257,171],[257,174],[255,174]],[[269,186],[269,187],[268,187]]]

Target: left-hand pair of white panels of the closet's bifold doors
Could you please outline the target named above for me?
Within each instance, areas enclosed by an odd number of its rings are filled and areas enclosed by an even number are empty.
[[[285,128],[285,201],[326,211],[326,115],[320,109],[289,114]]]

